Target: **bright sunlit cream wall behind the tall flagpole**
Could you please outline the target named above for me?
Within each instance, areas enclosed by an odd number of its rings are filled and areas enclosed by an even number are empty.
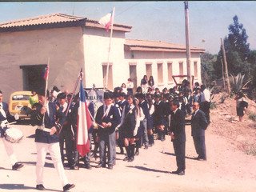
[[[129,66],[124,62],[125,33],[114,31],[111,40],[110,60],[113,72],[113,88],[121,86],[129,76]],[[110,31],[84,28],[84,53],[86,65],[86,87],[103,87],[102,63],[107,63]]]

